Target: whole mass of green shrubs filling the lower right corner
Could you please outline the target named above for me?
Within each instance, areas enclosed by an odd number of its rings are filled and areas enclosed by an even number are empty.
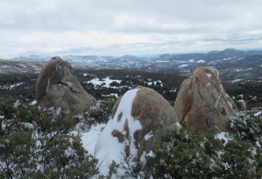
[[[147,157],[154,178],[261,178],[262,118],[241,113],[230,119],[230,140],[186,129],[165,134],[163,144]]]

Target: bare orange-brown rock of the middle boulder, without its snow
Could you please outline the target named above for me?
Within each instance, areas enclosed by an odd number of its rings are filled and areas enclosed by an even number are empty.
[[[134,138],[137,141],[138,155],[141,156],[143,151],[147,154],[150,150],[154,151],[154,148],[161,143],[161,137],[166,131],[172,129],[179,129],[177,115],[174,113],[174,109],[168,103],[168,101],[161,96],[161,94],[155,92],[148,87],[136,87],[139,89],[137,96],[132,102],[131,115],[137,118],[142,125],[142,129],[135,132]],[[112,118],[117,112],[121,98],[117,101],[112,110]],[[116,119],[122,117],[122,113],[116,116]],[[120,120],[126,120],[121,118]],[[123,131],[129,131],[128,124],[123,126]],[[150,138],[144,138],[146,135],[152,136]]]

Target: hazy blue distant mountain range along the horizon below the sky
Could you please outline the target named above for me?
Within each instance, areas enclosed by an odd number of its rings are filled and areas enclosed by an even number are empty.
[[[49,55],[19,56],[12,61],[44,62]],[[130,56],[61,56],[61,59],[85,67],[114,67],[139,69],[148,72],[192,72],[199,66],[214,66],[226,80],[262,76],[262,50],[242,51],[228,48],[206,54],[161,54],[155,57]]]

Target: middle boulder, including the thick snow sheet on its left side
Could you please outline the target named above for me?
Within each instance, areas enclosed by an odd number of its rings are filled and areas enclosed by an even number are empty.
[[[103,159],[102,172],[112,160],[137,156],[145,164],[145,155],[161,144],[166,131],[179,129],[177,115],[161,94],[147,87],[137,87],[119,98],[112,119],[97,140],[95,154]]]

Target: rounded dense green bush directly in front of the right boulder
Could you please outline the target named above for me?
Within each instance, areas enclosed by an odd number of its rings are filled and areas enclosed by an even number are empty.
[[[168,132],[148,165],[154,178],[211,178],[225,169],[219,153],[223,142],[210,134],[196,136],[185,129]]]

